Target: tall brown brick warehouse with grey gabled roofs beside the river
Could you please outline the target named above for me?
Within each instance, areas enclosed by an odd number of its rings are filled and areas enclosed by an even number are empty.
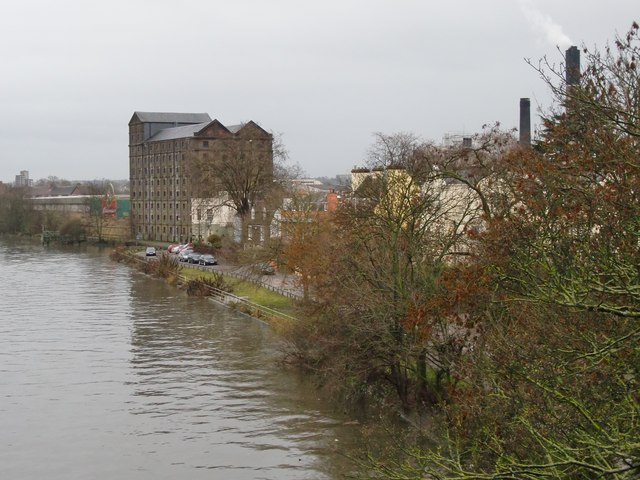
[[[216,168],[238,148],[266,156],[273,168],[272,136],[252,121],[224,126],[206,113],[135,112],[129,121],[132,235],[169,242],[193,239],[198,178],[190,166]]]

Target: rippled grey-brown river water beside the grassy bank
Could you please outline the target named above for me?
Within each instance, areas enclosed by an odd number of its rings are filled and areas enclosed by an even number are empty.
[[[360,427],[268,327],[108,253],[0,239],[0,478],[344,478]]]

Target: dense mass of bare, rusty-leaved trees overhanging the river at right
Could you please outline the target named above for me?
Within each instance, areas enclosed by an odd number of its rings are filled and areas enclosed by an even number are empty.
[[[583,53],[578,85],[535,67],[556,101],[531,146],[377,134],[371,174],[285,246],[313,300],[286,358],[439,420],[372,478],[640,477],[638,25]]]

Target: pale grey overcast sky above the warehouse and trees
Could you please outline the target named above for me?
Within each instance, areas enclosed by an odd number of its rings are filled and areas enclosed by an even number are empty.
[[[136,110],[254,120],[308,175],[347,173],[374,132],[517,127],[521,97],[550,102],[525,58],[633,20],[638,0],[6,1],[0,181],[128,178]]]

